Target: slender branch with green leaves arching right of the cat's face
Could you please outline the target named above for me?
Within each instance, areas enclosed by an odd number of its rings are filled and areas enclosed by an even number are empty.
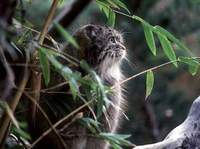
[[[128,8],[125,4],[121,4],[121,1],[112,1],[112,3],[109,0],[96,0],[97,5],[99,6],[100,10],[106,15],[108,19],[108,23],[111,26],[114,26],[115,24],[115,18],[116,14],[125,16],[130,18],[131,20],[136,20],[141,23],[143,30],[144,30],[144,35],[145,39],[147,42],[147,45],[151,51],[151,53],[156,56],[157,54],[157,48],[156,48],[156,42],[154,38],[154,34],[157,35],[158,40],[160,41],[161,47],[163,49],[164,54],[166,57],[170,60],[170,62],[161,64],[159,66],[156,66],[151,69],[147,69],[141,73],[138,73],[136,75],[133,75],[132,77],[129,77],[120,84],[123,84],[143,73],[147,73],[146,76],[146,98],[151,94],[153,85],[154,85],[154,74],[153,71],[154,69],[163,67],[165,65],[173,64],[175,67],[178,67],[177,62],[182,62],[185,63],[189,66],[189,72],[192,75],[197,74],[199,68],[200,68],[200,63],[192,56],[191,50],[185,46],[180,40],[178,40],[174,35],[172,35],[170,32],[165,30],[163,27],[159,25],[152,26],[142,18],[136,15],[130,15],[130,12],[128,11]],[[117,10],[116,10],[117,9]],[[127,13],[124,13],[122,11],[118,11],[119,9],[125,9]],[[179,57],[177,59],[176,53],[173,49],[172,43],[174,43],[179,49],[182,49],[188,53],[187,57]]]

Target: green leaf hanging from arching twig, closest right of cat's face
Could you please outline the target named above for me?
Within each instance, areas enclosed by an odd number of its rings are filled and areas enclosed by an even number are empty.
[[[151,30],[152,26],[147,23],[142,23],[144,28],[144,34],[147,41],[147,45],[150,48],[153,55],[156,55],[156,44],[153,36],[153,32]]]

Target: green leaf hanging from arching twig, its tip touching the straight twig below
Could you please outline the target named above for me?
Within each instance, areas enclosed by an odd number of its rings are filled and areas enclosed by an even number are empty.
[[[167,39],[166,36],[162,34],[157,34],[157,35],[165,55],[169,58],[170,61],[174,61],[173,64],[175,65],[175,67],[178,67],[178,64],[176,62],[176,54],[171,46],[170,41]]]

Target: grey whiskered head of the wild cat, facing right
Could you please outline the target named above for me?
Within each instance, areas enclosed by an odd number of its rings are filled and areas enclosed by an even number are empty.
[[[77,36],[78,35],[78,36]],[[91,66],[118,64],[125,57],[126,48],[122,35],[111,27],[85,25],[77,33],[84,59]]]

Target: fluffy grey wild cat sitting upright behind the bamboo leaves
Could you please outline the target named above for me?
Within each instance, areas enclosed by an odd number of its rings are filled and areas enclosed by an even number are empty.
[[[81,50],[84,51],[83,58],[97,72],[102,82],[108,86],[115,86],[113,92],[108,95],[114,106],[110,105],[100,117],[104,132],[115,132],[119,125],[124,101],[119,84],[123,78],[120,65],[126,54],[122,35],[110,27],[86,25],[79,29],[74,36],[80,44]],[[83,128],[81,133],[84,136],[84,133],[87,132]],[[107,149],[109,145],[94,137],[78,137],[73,139],[70,148]]]

